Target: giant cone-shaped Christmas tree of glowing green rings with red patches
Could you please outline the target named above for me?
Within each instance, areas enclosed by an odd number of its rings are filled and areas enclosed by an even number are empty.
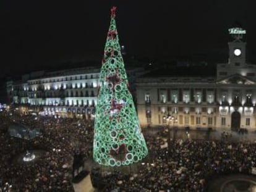
[[[100,72],[93,141],[93,159],[113,167],[138,162],[148,154],[128,89],[115,16],[113,7]]]

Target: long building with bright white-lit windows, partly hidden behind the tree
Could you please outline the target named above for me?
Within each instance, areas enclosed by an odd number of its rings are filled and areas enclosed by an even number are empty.
[[[130,91],[135,94],[135,79],[143,68],[128,69]],[[38,71],[7,81],[7,96],[22,114],[92,118],[97,104],[100,67],[84,67],[55,72]]]

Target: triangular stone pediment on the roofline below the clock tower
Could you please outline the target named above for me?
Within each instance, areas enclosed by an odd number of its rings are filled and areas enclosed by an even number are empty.
[[[239,85],[255,85],[254,80],[250,80],[247,77],[244,77],[239,74],[231,75],[229,77],[218,80],[218,84],[239,84]]]

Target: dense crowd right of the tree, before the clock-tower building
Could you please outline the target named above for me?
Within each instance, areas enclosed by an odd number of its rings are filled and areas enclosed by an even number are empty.
[[[256,163],[256,143],[177,140],[171,151],[147,138],[153,158],[139,172],[109,173],[105,191],[205,191],[216,175],[249,174]]]

